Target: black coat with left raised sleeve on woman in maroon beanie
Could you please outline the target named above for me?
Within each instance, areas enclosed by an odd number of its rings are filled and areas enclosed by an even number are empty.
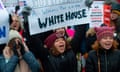
[[[71,49],[61,55],[54,56],[47,48],[43,47],[42,42],[36,43],[39,44],[39,59],[41,60],[44,72],[77,71],[76,57]]]

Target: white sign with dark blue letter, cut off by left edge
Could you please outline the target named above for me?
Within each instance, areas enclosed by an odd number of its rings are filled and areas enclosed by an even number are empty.
[[[6,43],[8,40],[8,19],[8,13],[0,0],[0,44]]]

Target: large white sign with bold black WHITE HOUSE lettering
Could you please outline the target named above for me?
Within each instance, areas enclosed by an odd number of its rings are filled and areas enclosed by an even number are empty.
[[[88,8],[81,2],[34,8],[29,16],[30,34],[59,27],[89,23]]]

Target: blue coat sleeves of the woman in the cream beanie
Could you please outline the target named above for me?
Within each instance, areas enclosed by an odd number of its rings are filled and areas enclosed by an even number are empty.
[[[31,52],[26,52],[23,59],[27,62],[32,72],[40,72],[40,65]],[[8,63],[3,55],[0,56],[0,72],[14,72],[18,64],[18,57],[13,55]]]

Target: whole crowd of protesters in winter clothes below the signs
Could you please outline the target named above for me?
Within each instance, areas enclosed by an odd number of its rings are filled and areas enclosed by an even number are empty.
[[[75,25],[33,36],[17,6],[9,15],[8,42],[0,45],[0,72],[120,72],[120,4],[110,6],[110,26]]]

